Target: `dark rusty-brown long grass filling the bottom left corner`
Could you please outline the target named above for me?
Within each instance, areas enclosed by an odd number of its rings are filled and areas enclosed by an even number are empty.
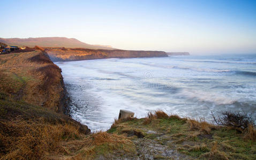
[[[79,137],[79,128],[72,123],[48,124],[43,119],[19,118],[2,121],[0,159],[37,159],[48,153],[63,153],[61,141]]]

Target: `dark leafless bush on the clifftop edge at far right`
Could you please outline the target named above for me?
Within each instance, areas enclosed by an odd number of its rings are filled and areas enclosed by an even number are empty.
[[[249,125],[254,125],[254,119],[251,115],[246,113],[242,114],[235,111],[224,111],[218,117],[215,117],[213,113],[212,116],[216,124],[232,127],[241,132],[247,129]]]

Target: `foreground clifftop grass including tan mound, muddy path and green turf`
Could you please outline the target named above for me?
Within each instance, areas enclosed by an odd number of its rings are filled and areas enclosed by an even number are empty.
[[[162,114],[164,115],[164,114]],[[178,116],[115,121],[107,132],[66,143],[66,159],[255,159],[256,142],[228,127]]]

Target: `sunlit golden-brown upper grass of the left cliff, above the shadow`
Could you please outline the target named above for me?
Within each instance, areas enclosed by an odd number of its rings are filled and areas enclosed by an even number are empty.
[[[61,69],[41,51],[1,55],[0,89],[27,103],[62,113]]]

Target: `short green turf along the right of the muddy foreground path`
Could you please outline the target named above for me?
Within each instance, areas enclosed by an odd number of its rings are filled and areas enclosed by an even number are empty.
[[[123,134],[125,130],[140,129],[148,133],[144,139],[154,140],[161,145],[168,145],[171,149],[178,150],[181,154],[191,158],[204,159],[209,154],[231,159],[256,159],[256,142],[243,138],[243,134],[234,129],[216,127],[205,134],[199,130],[191,130],[190,124],[185,119],[160,118],[152,119],[144,125],[144,118],[132,121],[121,121],[108,132]],[[217,143],[217,151],[211,153],[214,144]]]

